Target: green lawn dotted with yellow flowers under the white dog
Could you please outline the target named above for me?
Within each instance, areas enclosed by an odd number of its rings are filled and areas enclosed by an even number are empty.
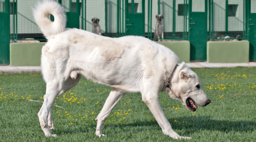
[[[191,113],[179,100],[161,92],[159,100],[173,130],[181,136],[192,137],[191,142],[255,141],[256,68],[192,70],[200,76],[202,87],[212,102],[205,107],[198,106],[198,110]],[[84,77],[80,81],[66,92],[65,99],[64,94],[56,99],[56,105],[65,110],[52,107],[55,130],[51,132],[59,136],[54,138],[45,137],[40,128],[37,113],[42,103],[23,100],[28,97],[43,101],[46,84],[42,75],[0,74],[0,141],[176,141],[162,133],[140,93],[127,93],[117,103],[104,123],[102,132],[106,137],[98,138],[94,134],[94,119],[111,87]]]

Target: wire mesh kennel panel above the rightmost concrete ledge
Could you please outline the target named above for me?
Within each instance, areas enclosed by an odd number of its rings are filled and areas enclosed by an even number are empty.
[[[212,11],[213,39],[245,39],[244,0],[213,0]]]

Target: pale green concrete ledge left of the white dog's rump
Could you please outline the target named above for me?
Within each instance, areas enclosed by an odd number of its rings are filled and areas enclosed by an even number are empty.
[[[41,50],[45,43],[10,44],[11,66],[40,66]]]

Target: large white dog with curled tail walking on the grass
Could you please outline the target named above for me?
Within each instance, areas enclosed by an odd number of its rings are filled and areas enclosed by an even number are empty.
[[[48,19],[50,14],[54,22]],[[141,92],[143,102],[165,135],[190,139],[173,131],[159,103],[159,91],[167,88],[172,98],[180,100],[191,111],[197,109],[195,104],[205,106],[210,100],[197,74],[184,62],[177,66],[179,59],[174,52],[144,37],[109,38],[75,28],[66,29],[64,9],[55,1],[38,3],[34,17],[48,39],[41,57],[46,94],[38,113],[46,136],[57,137],[50,132],[54,129],[51,107],[56,97],[74,87],[84,75],[113,87],[95,119],[97,136],[105,136],[103,123],[122,96],[126,92]]]

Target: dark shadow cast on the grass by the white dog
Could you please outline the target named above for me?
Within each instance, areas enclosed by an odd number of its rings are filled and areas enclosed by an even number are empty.
[[[178,122],[174,122],[178,120]],[[183,122],[184,121],[184,122]],[[185,130],[185,133],[198,133],[199,131],[220,131],[220,132],[252,132],[256,129],[256,122],[254,121],[228,121],[228,120],[214,120],[210,116],[200,117],[177,117],[175,119],[169,119],[172,123],[172,128],[175,130]],[[187,122],[187,123],[186,123]],[[179,124],[180,123],[180,124]],[[117,126],[118,125],[118,126]],[[58,127],[58,126],[57,126]],[[122,129],[131,128],[134,133],[143,131],[143,127],[152,127],[154,130],[160,130],[161,127],[156,121],[136,121],[133,123],[118,122],[115,124],[104,124],[104,129],[114,130],[114,128]],[[141,128],[142,127],[142,128]],[[115,129],[116,130],[116,129]],[[96,131],[96,125],[87,123],[86,125],[80,125],[78,127],[69,127],[64,131],[59,129],[54,133],[57,135],[65,135],[67,133],[87,133],[88,131]]]

